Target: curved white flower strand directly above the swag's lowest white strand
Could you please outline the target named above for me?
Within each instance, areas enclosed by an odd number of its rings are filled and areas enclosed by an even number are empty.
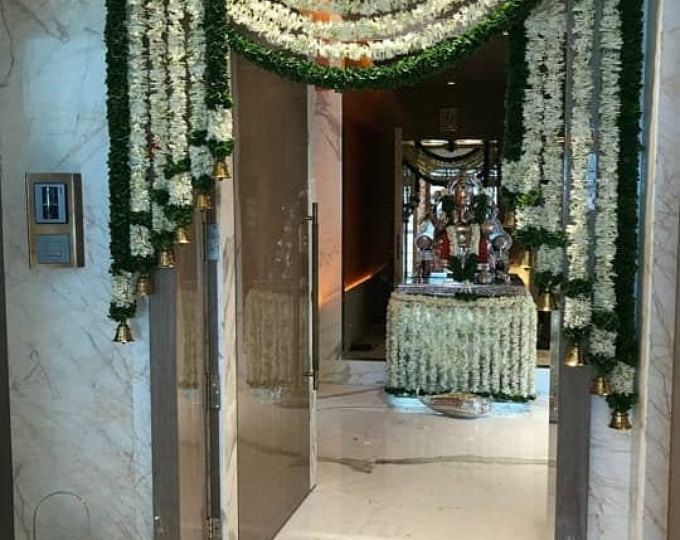
[[[410,30],[417,31],[449,15],[462,3],[463,0],[426,0],[409,10],[347,21],[316,21],[270,0],[236,0],[231,9],[241,10],[247,5],[259,19],[276,23],[287,32],[317,39],[357,41],[385,39]]]

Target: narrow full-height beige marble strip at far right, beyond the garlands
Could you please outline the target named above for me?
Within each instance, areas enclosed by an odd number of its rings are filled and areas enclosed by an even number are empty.
[[[680,10],[652,4],[656,29],[648,58],[647,194],[642,287],[640,404],[633,444],[631,534],[666,538],[680,219]]]

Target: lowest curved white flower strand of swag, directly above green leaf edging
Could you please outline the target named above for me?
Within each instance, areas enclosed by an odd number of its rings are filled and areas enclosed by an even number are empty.
[[[229,15],[234,23],[259,35],[274,48],[281,48],[307,57],[320,56],[334,60],[369,58],[385,61],[432,47],[445,39],[461,35],[467,29],[479,23],[494,9],[502,6],[503,2],[504,0],[475,0],[463,6],[445,20],[434,22],[393,38],[373,41],[368,44],[316,38],[309,34],[300,33],[298,26],[295,26],[295,30],[291,30],[288,25],[298,24],[297,18],[284,17],[276,8],[263,12],[258,7],[260,5],[258,0],[255,0],[254,3],[249,1],[234,2],[228,4],[228,8]],[[315,23],[308,20],[305,23],[305,28],[308,29],[307,27],[314,25]]]

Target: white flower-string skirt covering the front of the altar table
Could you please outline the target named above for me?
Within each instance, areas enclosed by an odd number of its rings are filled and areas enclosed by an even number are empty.
[[[528,292],[470,301],[394,292],[387,313],[388,390],[533,398],[536,321]]]

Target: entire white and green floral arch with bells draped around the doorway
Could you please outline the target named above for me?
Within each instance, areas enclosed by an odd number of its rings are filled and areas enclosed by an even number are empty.
[[[507,31],[503,170],[515,237],[536,255],[540,289],[564,297],[569,347],[595,367],[614,414],[632,407],[642,0],[106,5],[116,341],[132,339],[128,320],[155,268],[173,266],[195,210],[229,176],[230,48],[296,81],[380,89],[436,75]]]

